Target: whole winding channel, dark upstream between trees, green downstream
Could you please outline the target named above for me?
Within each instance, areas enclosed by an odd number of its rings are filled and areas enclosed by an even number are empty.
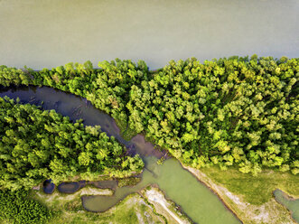
[[[107,210],[129,193],[140,191],[149,184],[157,184],[164,191],[166,197],[181,206],[182,210],[196,223],[240,223],[219,198],[201,182],[198,182],[192,173],[184,170],[177,160],[167,159],[162,165],[158,165],[156,161],[164,153],[155,150],[151,143],[145,142],[142,135],[135,136],[129,142],[122,139],[114,120],[92,107],[84,98],[47,87],[0,89],[0,97],[5,96],[20,98],[23,103],[42,105],[43,109],[55,109],[63,116],[69,116],[71,120],[84,118],[85,125],[101,126],[107,135],[114,135],[120,143],[141,155],[145,162],[145,171],[141,182],[134,187],[117,188],[113,196],[83,197],[82,202],[86,209]],[[76,186],[64,187],[72,190]]]

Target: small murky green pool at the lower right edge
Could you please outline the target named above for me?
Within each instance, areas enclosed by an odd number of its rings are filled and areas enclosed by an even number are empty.
[[[299,223],[299,199],[294,200],[287,196],[285,192],[278,189],[274,191],[274,196],[276,197],[276,201],[283,204],[286,209],[291,211],[293,219]]]

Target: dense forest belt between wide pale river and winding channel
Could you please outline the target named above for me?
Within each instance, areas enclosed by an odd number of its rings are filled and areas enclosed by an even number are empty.
[[[232,57],[170,61],[90,61],[34,71],[0,67],[0,84],[50,86],[88,98],[129,135],[144,133],[196,168],[236,165],[299,173],[299,59]]]

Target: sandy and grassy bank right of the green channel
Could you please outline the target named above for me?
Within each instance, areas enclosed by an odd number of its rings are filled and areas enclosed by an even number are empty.
[[[211,191],[214,191],[229,210],[232,210],[244,224],[296,223],[292,219],[290,211],[279,204],[272,194],[276,189],[274,185],[276,185],[288,193],[292,192],[291,195],[298,195],[299,190],[295,188],[295,185],[299,181],[294,180],[293,187],[292,183],[289,182],[296,179],[292,174],[265,171],[259,173],[257,177],[253,177],[239,173],[237,169],[220,171],[217,167],[201,170],[183,167],[206,184]],[[287,176],[289,178],[286,178]],[[248,184],[245,179],[249,179]],[[275,183],[268,184],[267,181],[269,180]],[[261,184],[264,187],[260,186]],[[233,185],[242,186],[242,188],[232,189],[231,186]],[[253,195],[253,191],[256,195]]]

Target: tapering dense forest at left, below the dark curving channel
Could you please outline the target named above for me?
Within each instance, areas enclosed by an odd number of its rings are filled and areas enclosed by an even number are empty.
[[[72,177],[97,180],[99,175],[124,177],[142,171],[136,155],[108,137],[99,126],[72,123],[54,110],[42,110],[0,98],[0,187],[29,190],[45,179]]]

